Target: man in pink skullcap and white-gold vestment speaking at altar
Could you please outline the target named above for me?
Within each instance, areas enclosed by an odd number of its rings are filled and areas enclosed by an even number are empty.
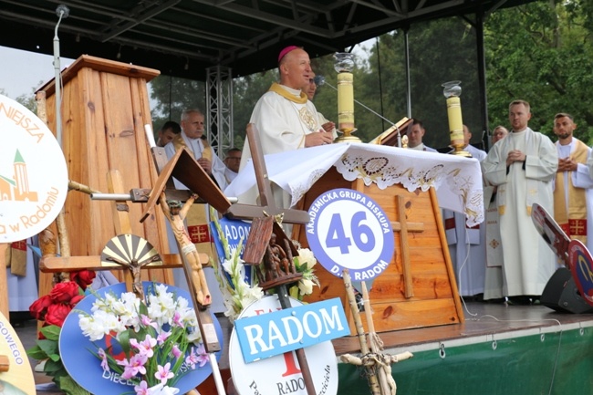
[[[278,56],[280,83],[273,83],[257,100],[250,123],[259,134],[262,153],[278,153],[331,144],[334,133],[321,127],[315,105],[301,90],[313,76],[307,52],[300,47],[286,47]],[[251,158],[249,139],[245,140],[241,169]],[[273,185],[273,191],[276,188]],[[286,193],[274,193],[276,205],[288,207]]]

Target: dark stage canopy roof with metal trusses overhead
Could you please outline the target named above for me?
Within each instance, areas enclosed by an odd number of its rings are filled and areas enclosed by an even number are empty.
[[[62,57],[88,54],[173,77],[205,68],[244,76],[275,68],[282,47],[311,57],[447,16],[487,15],[532,0],[0,0],[0,45]],[[6,59],[5,59],[6,61]]]

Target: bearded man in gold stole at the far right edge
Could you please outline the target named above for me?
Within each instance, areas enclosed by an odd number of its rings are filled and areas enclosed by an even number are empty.
[[[554,117],[554,133],[557,135],[558,171],[554,183],[554,219],[571,239],[578,239],[593,246],[593,237],[588,237],[591,226],[590,205],[593,180],[589,176],[587,161],[591,149],[573,136],[577,129],[570,114],[560,112]]]

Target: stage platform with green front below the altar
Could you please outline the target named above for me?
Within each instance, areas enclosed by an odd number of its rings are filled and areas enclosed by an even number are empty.
[[[380,334],[385,352],[411,351],[412,359],[392,365],[403,395],[593,393],[593,314],[563,314],[538,305],[467,302],[465,323]],[[232,330],[225,317],[224,345]],[[35,341],[35,321],[16,327],[25,348]],[[357,338],[334,340],[337,355],[357,354]],[[32,362],[35,366],[35,360]],[[228,359],[220,361],[228,369]],[[338,394],[370,393],[362,369],[340,363]],[[224,372],[227,375],[227,371]],[[37,383],[47,383],[43,373]],[[213,388],[200,388],[202,395]],[[61,394],[58,390],[43,394]],[[266,394],[267,395],[267,394]]]

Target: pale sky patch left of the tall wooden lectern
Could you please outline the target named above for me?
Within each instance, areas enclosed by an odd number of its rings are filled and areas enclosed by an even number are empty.
[[[0,59],[0,88],[10,99],[21,95],[33,97],[34,89],[56,77],[53,56],[0,47]],[[60,68],[64,69],[72,62],[74,59],[60,57]]]

